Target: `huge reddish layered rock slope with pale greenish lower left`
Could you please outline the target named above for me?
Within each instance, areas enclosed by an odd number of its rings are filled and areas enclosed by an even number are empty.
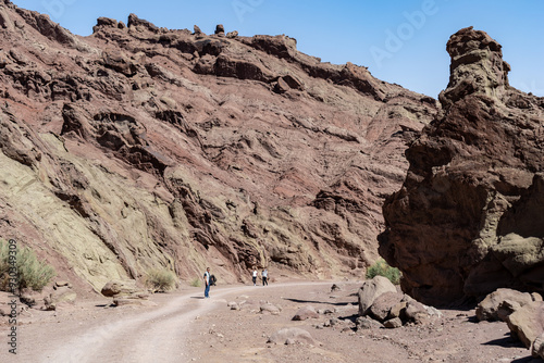
[[[164,267],[362,274],[436,102],[218,29],[131,15],[83,38],[1,1],[0,236],[98,291]]]

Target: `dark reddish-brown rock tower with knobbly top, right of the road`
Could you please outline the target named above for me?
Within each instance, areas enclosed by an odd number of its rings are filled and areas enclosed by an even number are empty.
[[[447,51],[443,111],[406,152],[380,254],[428,303],[499,287],[542,292],[544,99],[508,85],[500,45],[483,32],[459,30]]]

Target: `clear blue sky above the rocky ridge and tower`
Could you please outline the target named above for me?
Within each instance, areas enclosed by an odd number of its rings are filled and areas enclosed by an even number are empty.
[[[510,85],[544,97],[543,0],[13,0],[89,35],[96,18],[126,23],[129,13],[157,26],[240,35],[285,34],[323,62],[351,62],[375,77],[437,97],[448,82],[446,41],[467,26],[503,45]]]

